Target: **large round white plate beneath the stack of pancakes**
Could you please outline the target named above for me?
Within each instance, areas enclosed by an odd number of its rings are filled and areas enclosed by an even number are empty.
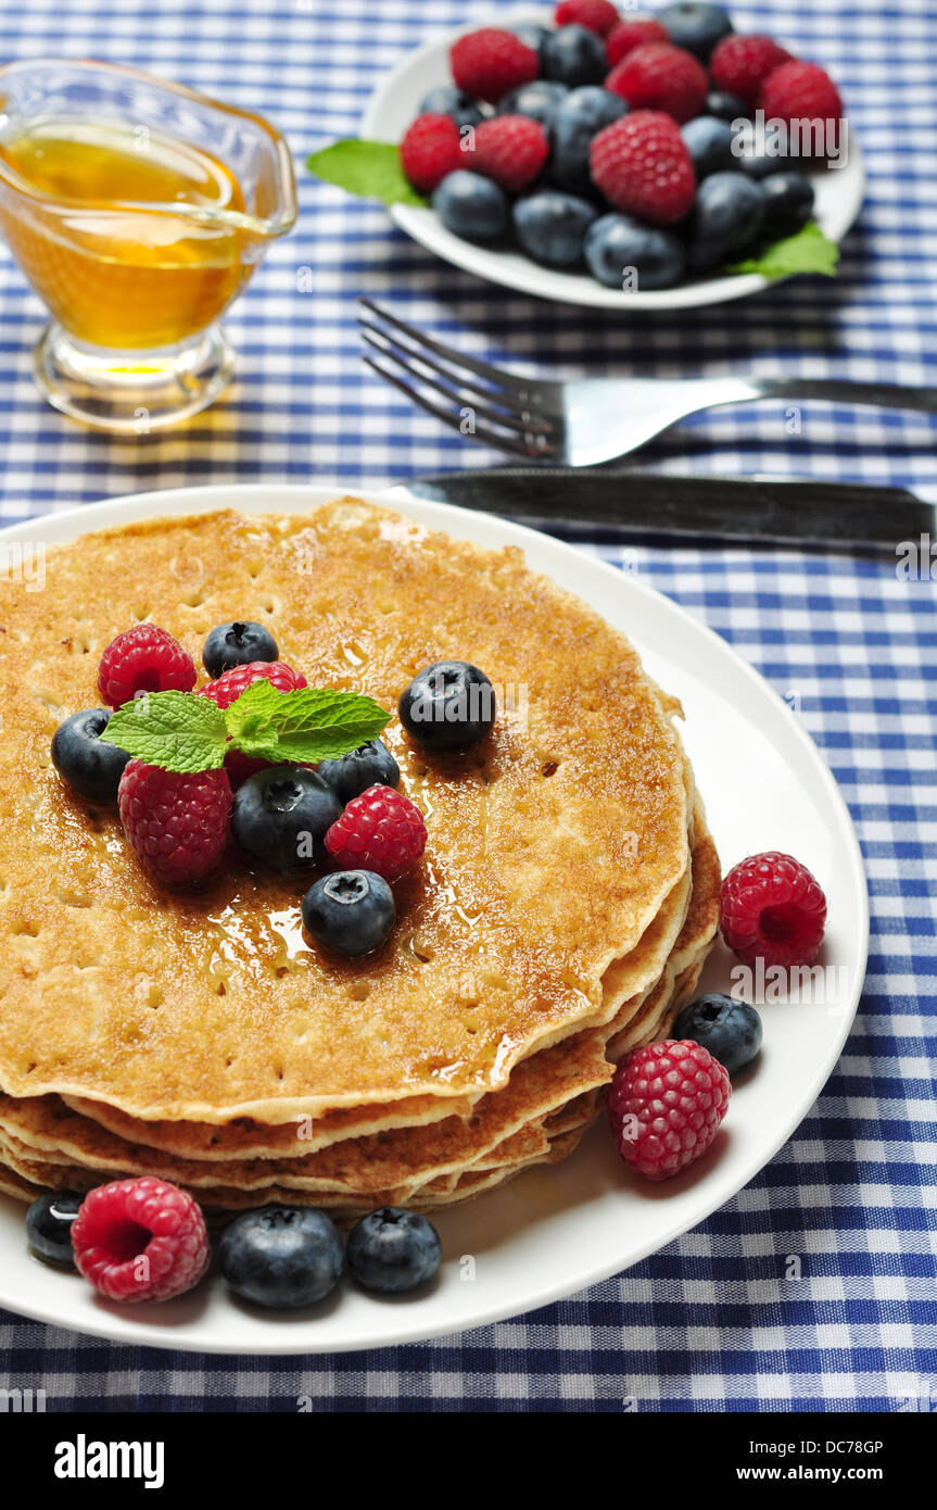
[[[264,483],[137,494],[30,519],[0,533],[0,544],[71,541],[131,519],[219,507],[302,512],[346,491]],[[599,1119],[566,1163],[441,1213],[444,1265],[419,1299],[382,1300],[344,1282],[321,1308],[285,1315],[240,1305],[214,1276],[181,1300],[121,1308],[30,1258],[26,1208],[0,1197],[0,1306],[121,1342],[261,1354],[382,1347],[518,1315],[619,1273],[721,1206],[791,1137],[836,1065],[865,974],[866,883],[845,803],[782,696],[634,574],[502,519],[394,494],[373,501],[480,545],[519,545],[533,568],[637,643],[649,672],[684,704],[685,740],[723,867],[783,849],[815,871],[830,900],[821,963],[839,968],[845,992],[831,1007],[763,1009],[756,1068],[736,1086],[714,1148],[676,1179],[655,1185],[628,1175]],[[720,945],[705,989],[727,989],[730,965]]]

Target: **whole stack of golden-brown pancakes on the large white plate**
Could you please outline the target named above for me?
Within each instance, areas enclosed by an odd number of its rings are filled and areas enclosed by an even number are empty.
[[[151,619],[198,663],[244,618],[388,710],[436,660],[495,684],[468,755],[385,732],[429,843],[364,959],[303,935],[308,877],[231,855],[196,892],[151,882],[51,769],[115,634]],[[50,553],[44,592],[2,584],[0,627],[6,1193],[151,1173],[222,1210],[450,1205],[566,1157],[693,995],[720,871],[679,710],[519,551],[353,498],[155,519]]]

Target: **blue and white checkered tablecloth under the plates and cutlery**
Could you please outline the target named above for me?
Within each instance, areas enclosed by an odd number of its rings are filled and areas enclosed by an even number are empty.
[[[498,0],[30,0],[0,54],[130,62],[270,115],[297,165],[352,134],[409,48]],[[531,371],[839,374],[937,385],[937,6],[762,0],[766,30],[840,82],[869,171],[836,282],[798,279],[709,311],[610,320],[489,287],[406,240],[374,204],[299,169],[300,222],[228,329],[240,376],[164,436],[112,441],[30,379],[42,310],[0,254],[0,518],[184,483],[388,479],[493,461],[359,361],[355,300],[379,300]],[[299,269],[311,267],[302,293]],[[688,421],[644,453],[670,471],[937,482],[922,415],[762,403]],[[620,553],[584,542],[610,559]],[[0,1386],[50,1410],[937,1409],[932,1024],[937,649],[932,581],[892,562],[641,548],[647,578],[724,634],[803,717],[851,806],[872,894],[856,1030],[777,1158],[714,1217],[594,1290],[438,1342],[336,1357],[213,1359],[113,1347],[0,1314]],[[785,1279],[803,1256],[798,1284]]]

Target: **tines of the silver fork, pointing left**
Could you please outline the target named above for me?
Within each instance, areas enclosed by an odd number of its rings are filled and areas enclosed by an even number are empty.
[[[379,358],[365,353],[364,361],[421,409],[460,435],[515,456],[557,453],[563,415],[554,384],[490,367],[404,325],[370,299],[359,302],[362,340]]]

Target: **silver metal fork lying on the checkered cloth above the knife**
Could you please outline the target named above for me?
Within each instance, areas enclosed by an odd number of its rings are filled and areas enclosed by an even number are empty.
[[[617,461],[700,409],[753,399],[828,399],[937,414],[937,388],[836,378],[519,378],[424,335],[370,299],[361,334],[376,373],[481,445],[525,461],[593,467]],[[435,396],[435,397],[430,397]]]

